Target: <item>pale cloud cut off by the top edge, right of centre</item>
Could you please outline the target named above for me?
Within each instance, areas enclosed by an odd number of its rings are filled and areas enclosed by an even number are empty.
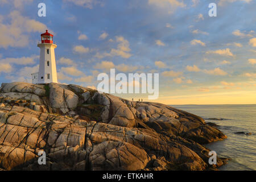
[[[148,0],[148,4],[167,9],[169,14],[174,13],[178,7],[186,7],[183,1],[180,0]]]

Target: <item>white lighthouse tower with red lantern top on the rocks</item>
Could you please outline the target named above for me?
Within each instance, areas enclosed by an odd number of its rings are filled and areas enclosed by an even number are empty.
[[[46,84],[57,81],[56,61],[54,49],[57,47],[53,44],[53,35],[48,33],[41,34],[41,41],[38,43],[40,48],[39,72],[32,73],[32,84]]]

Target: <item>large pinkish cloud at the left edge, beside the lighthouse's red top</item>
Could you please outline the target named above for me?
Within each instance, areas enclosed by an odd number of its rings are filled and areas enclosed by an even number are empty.
[[[43,32],[47,29],[45,24],[22,16],[16,10],[7,17],[11,19],[10,24],[0,22],[0,48],[26,47],[30,42],[31,32]]]

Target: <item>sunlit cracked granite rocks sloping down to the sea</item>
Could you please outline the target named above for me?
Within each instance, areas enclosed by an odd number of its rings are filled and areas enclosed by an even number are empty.
[[[0,169],[215,170],[202,144],[225,139],[204,119],[78,85],[3,83]],[[45,151],[46,165],[38,164]]]

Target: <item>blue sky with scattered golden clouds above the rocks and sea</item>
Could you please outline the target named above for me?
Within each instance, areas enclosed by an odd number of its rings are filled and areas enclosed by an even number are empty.
[[[253,0],[0,0],[0,82],[31,82],[49,30],[63,84],[97,88],[98,74],[115,68],[159,73],[158,99],[114,94],[129,100],[256,104],[255,9]]]

